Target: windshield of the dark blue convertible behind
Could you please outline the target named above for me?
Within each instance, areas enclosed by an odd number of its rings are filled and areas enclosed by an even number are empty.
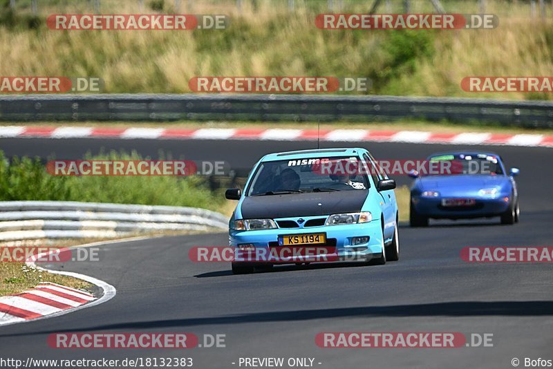
[[[440,164],[439,166],[437,164]],[[439,167],[439,173],[429,170],[423,176],[471,174],[485,176],[499,176],[503,174],[500,160],[496,155],[465,153],[444,154],[431,156],[427,165]]]

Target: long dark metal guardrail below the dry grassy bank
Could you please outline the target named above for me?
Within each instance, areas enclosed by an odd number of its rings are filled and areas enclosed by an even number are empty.
[[[0,120],[377,121],[422,119],[553,127],[553,102],[342,95],[13,95]]]

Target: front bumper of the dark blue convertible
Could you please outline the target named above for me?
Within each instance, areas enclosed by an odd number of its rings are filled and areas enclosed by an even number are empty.
[[[444,197],[424,198],[413,196],[411,198],[411,206],[414,207],[418,214],[429,218],[485,218],[499,216],[509,209],[512,199],[509,197],[509,201],[506,202],[504,200],[505,197],[509,196],[475,198],[475,205],[444,207],[442,206],[442,198]]]

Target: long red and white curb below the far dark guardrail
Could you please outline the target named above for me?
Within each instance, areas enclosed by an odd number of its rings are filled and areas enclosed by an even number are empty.
[[[277,141],[347,141],[408,142],[419,144],[511,145],[553,147],[553,135],[508,133],[432,133],[425,131],[373,131],[367,129],[248,129],[248,128],[116,128],[0,126],[0,138],[120,138],[174,140],[277,140]]]

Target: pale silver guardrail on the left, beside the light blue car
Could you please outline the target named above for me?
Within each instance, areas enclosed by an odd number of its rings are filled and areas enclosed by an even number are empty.
[[[0,202],[0,241],[117,237],[140,231],[227,229],[223,214],[193,207],[97,202]]]

